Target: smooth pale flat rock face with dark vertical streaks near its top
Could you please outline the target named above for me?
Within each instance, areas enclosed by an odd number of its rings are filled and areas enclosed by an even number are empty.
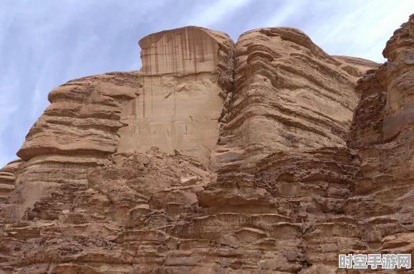
[[[174,149],[208,164],[231,92],[234,43],[228,35],[185,27],[140,40],[142,87],[122,112],[118,151]]]

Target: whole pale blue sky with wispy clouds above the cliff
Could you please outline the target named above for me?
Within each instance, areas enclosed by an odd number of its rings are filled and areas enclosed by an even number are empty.
[[[138,40],[180,26],[301,29],[331,55],[384,62],[413,0],[0,0],[0,167],[67,80],[141,67]]]

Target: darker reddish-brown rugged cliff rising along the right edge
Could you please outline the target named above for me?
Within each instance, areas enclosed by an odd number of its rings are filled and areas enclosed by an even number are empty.
[[[358,148],[361,178],[345,213],[363,231],[363,252],[413,253],[414,16],[395,31],[388,62],[360,80],[350,145]]]

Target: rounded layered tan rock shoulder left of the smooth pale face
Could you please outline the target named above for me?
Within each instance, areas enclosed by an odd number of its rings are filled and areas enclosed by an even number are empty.
[[[117,130],[125,126],[119,121],[122,108],[137,96],[139,77],[137,71],[89,76],[49,93],[51,105],[17,152],[25,161],[16,177],[21,187],[10,197],[17,220],[40,200],[56,210],[70,208],[60,197],[88,188],[86,170],[103,166],[116,152]]]

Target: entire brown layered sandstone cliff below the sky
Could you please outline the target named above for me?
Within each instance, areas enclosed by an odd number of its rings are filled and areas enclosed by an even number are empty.
[[[139,44],[139,71],[53,89],[0,169],[1,274],[371,273],[338,255],[414,257],[414,15],[384,64],[284,27]],[[398,272],[413,273],[376,270]]]

